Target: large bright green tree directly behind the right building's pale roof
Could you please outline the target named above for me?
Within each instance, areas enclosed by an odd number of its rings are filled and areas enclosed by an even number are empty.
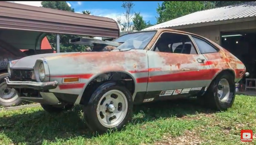
[[[204,10],[205,2],[202,1],[164,1],[156,8],[159,17],[157,23],[163,23],[196,11]]]

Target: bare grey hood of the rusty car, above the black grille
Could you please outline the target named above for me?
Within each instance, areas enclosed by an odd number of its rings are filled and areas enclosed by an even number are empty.
[[[10,66],[11,68],[24,68],[24,69],[33,69],[33,66],[36,63],[36,60],[40,58],[47,58],[47,57],[54,57],[54,56],[60,56],[65,54],[74,54],[74,53],[80,53],[80,52],[64,52],[64,53],[49,53],[49,54],[37,54],[37,55],[31,55],[27,57],[23,57],[19,60],[14,60],[14,65]]]

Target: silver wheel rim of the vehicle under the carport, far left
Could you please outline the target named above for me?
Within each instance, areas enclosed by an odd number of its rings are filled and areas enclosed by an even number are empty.
[[[18,98],[18,94],[14,88],[8,88],[6,82],[0,84],[0,101],[4,103],[13,102]]]

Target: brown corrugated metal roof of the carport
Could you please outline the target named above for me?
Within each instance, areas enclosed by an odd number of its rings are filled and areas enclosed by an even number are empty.
[[[115,20],[12,2],[0,2],[0,28],[118,37]]]

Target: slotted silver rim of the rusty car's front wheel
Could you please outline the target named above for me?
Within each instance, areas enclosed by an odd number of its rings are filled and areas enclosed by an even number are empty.
[[[101,125],[113,128],[119,125],[127,114],[128,101],[119,90],[106,92],[97,105],[97,117]]]

